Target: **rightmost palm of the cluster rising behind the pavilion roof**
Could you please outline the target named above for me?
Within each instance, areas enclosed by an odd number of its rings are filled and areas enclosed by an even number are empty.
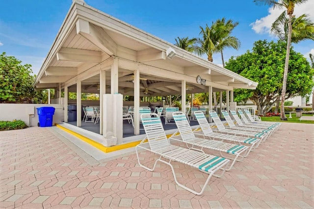
[[[240,41],[235,37],[231,36],[232,30],[237,26],[239,22],[233,22],[232,20],[226,21],[226,18],[222,18],[221,20],[217,20],[215,22],[216,31],[219,33],[219,41],[217,43],[217,48],[221,52],[221,60],[222,66],[225,67],[225,61],[223,56],[223,49],[227,47],[232,47],[234,49],[238,49],[241,46]]]

